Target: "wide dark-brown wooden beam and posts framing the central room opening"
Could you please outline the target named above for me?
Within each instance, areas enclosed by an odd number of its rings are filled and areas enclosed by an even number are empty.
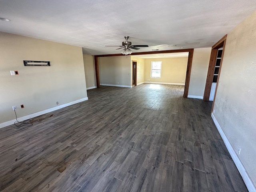
[[[180,53],[180,52],[188,52],[188,64],[187,64],[185,88],[184,88],[184,94],[183,94],[183,97],[187,98],[188,97],[188,88],[189,88],[189,82],[190,82],[190,74],[191,74],[191,67],[192,67],[192,59],[193,59],[194,49],[136,52],[136,53],[132,53],[130,55],[147,55],[147,54]],[[124,56],[124,55],[123,54],[94,55],[94,67],[95,67],[96,87],[97,88],[100,88],[98,58],[99,57],[114,57],[114,56]]]

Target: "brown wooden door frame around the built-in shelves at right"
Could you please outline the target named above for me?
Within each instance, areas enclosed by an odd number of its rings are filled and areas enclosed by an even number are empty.
[[[214,106],[215,96],[216,96],[216,92],[218,89],[220,71],[221,71],[221,66],[222,66],[222,61],[223,61],[223,56],[224,56],[224,51],[225,51],[225,45],[226,45],[226,39],[227,39],[227,35],[222,37],[216,44],[214,44],[214,46],[212,46],[212,51],[211,51],[211,55],[210,55],[210,62],[209,62],[209,67],[208,67],[205,89],[204,89],[204,101],[209,101],[210,91],[211,91],[211,87],[212,87],[212,78],[214,75],[214,69],[215,69],[218,49],[223,47],[221,60],[220,60],[220,69],[218,72],[218,78],[217,78],[216,88],[215,88],[215,92],[214,92],[214,98],[213,98],[213,102],[212,102],[212,109]],[[212,110],[211,110],[211,112],[212,112]]]

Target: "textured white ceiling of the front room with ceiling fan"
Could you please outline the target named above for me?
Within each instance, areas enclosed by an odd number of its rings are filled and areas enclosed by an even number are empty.
[[[150,47],[134,52],[210,47],[256,9],[255,0],[0,0],[0,31],[116,54],[105,45]]]

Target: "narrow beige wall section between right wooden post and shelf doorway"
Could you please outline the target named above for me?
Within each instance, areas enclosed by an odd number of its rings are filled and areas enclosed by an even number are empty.
[[[204,96],[211,50],[212,48],[194,49],[188,97],[203,98]]]

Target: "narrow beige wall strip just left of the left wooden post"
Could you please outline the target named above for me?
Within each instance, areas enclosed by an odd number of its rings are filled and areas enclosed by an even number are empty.
[[[96,78],[95,78],[95,68],[94,68],[94,58],[92,55],[83,55],[84,58],[84,73],[86,79],[87,89],[95,88]]]

